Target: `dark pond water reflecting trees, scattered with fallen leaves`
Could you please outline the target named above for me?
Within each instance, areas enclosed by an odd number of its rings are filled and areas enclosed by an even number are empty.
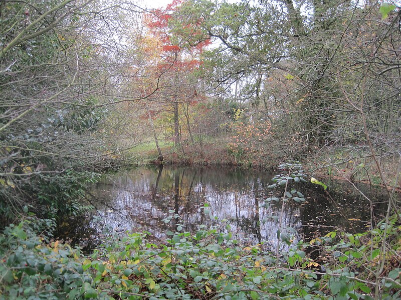
[[[280,216],[281,202],[273,202],[269,208],[261,205],[266,198],[283,193],[267,188],[275,174],[222,167],[137,168],[104,176],[91,190],[92,202],[100,219],[119,232],[146,230],[156,240],[163,240],[167,230],[177,229],[174,221],[165,223],[163,219],[177,214],[182,230],[229,223],[233,238],[249,244],[264,241],[274,248],[279,223],[270,216]],[[329,186],[329,196],[320,185],[300,183],[294,188],[306,201],[289,201],[284,206],[282,227],[288,228],[284,230],[292,234],[294,242],[334,229],[361,232],[383,215],[384,190],[358,184],[369,201],[351,184],[323,181]],[[79,225],[88,235],[99,231],[90,218]],[[222,230],[226,230],[223,225]],[[286,247],[284,244],[283,250]]]

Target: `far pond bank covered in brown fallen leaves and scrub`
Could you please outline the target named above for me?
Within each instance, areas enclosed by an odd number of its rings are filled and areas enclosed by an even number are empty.
[[[228,166],[270,171],[287,158],[276,152],[259,153],[233,153],[227,141],[205,143],[202,147],[195,144],[184,144],[179,147],[164,147],[163,156],[165,164],[197,165],[197,166]],[[159,164],[156,150],[143,154],[143,161]],[[147,158],[144,158],[147,157]],[[343,148],[328,148],[319,153],[300,155],[296,160],[303,164],[305,172],[311,176],[336,178],[352,182],[363,182],[372,185],[384,186],[377,166],[369,153],[353,153]],[[380,159],[380,167],[387,184],[394,186],[398,172],[398,157]],[[401,180],[397,181],[397,189],[401,189]]]

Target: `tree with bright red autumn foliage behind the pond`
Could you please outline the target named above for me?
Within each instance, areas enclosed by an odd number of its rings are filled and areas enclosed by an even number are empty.
[[[181,142],[180,125],[180,106],[184,111],[187,131],[191,136],[189,121],[189,103],[196,101],[196,86],[198,84],[194,72],[199,68],[201,61],[199,56],[206,45],[210,43],[208,39],[196,45],[187,43],[186,39],[180,37],[185,35],[175,35],[169,29],[169,24],[180,23],[179,18],[174,17],[174,13],[180,9],[181,1],[173,1],[167,5],[165,10],[154,10],[148,15],[148,27],[155,38],[160,41],[160,59],[155,65],[157,69],[157,83],[163,82],[164,87],[150,98],[163,99],[170,103],[173,111],[173,140],[175,145]],[[179,14],[177,14],[179,15]],[[181,23],[182,25],[182,23]],[[197,30],[196,25],[185,24],[185,32],[194,34]],[[181,104],[181,105],[180,105]],[[186,106],[185,106],[186,105]]]

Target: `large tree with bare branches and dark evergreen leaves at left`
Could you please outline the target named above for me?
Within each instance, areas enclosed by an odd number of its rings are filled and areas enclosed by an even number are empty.
[[[85,184],[96,176],[92,171],[112,153],[102,122],[109,113],[104,105],[115,102],[121,86],[117,53],[124,43],[110,37],[121,28],[110,16],[137,10],[117,2],[0,3],[4,217],[79,209]]]

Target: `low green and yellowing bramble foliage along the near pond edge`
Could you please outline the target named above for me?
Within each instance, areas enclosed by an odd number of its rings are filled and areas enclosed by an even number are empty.
[[[208,206],[206,205],[207,211]],[[166,222],[176,222],[172,215]],[[263,243],[243,246],[230,227],[200,226],[187,232],[178,222],[160,244],[148,233],[110,239],[91,255],[60,241],[46,243],[30,221],[6,228],[0,239],[0,298],[309,298],[370,299],[378,267],[381,224],[371,232],[330,232],[309,243],[299,242],[276,258]],[[400,296],[399,235],[388,227],[390,263],[380,274],[383,298]],[[340,236],[340,239],[336,239]],[[320,251],[316,260],[308,253]]]

